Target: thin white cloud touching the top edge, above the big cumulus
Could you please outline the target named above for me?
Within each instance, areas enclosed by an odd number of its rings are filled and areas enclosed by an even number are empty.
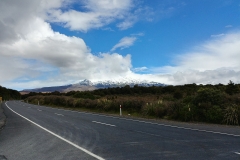
[[[63,11],[61,6],[54,6],[47,10],[46,19],[50,22],[61,23],[71,30],[87,32],[116,20],[125,21],[125,17],[129,15],[133,16],[130,12],[134,7],[133,0],[85,0],[78,3],[81,3],[84,11],[73,9]],[[125,25],[125,28],[127,27],[129,28],[130,25]]]

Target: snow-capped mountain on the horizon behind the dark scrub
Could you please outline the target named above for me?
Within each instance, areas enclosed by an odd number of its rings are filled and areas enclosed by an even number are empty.
[[[43,87],[37,89],[25,89],[22,92],[69,92],[69,91],[86,91],[95,90],[100,88],[114,88],[114,87],[124,87],[129,85],[133,87],[134,85],[150,87],[150,86],[165,86],[163,83],[153,82],[153,81],[138,81],[138,80],[126,80],[126,81],[95,81],[84,79],[76,84],[70,84],[65,86],[53,86],[53,87]]]

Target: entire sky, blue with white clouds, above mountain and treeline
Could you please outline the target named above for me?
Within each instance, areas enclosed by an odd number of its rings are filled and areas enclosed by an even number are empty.
[[[0,85],[240,82],[239,0],[0,2]]]

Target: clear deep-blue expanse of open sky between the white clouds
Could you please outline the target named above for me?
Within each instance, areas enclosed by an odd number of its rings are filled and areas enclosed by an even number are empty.
[[[141,3],[151,8],[153,13],[147,16],[152,22],[143,18],[126,30],[116,27],[118,21],[105,27],[112,31],[100,28],[86,33],[70,31],[56,24],[52,26],[56,31],[83,38],[93,54],[109,52],[123,36],[142,33],[142,36],[136,36],[133,46],[116,50],[122,55],[130,53],[134,67],[170,65],[174,54],[181,54],[211,39],[212,35],[228,33],[240,27],[240,2],[237,1],[151,0]]]

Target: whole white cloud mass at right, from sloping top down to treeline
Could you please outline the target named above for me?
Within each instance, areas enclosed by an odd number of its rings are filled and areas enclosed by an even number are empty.
[[[154,68],[169,84],[240,83],[240,32],[205,42],[191,52],[176,56],[174,66]],[[168,73],[168,75],[166,75]]]

